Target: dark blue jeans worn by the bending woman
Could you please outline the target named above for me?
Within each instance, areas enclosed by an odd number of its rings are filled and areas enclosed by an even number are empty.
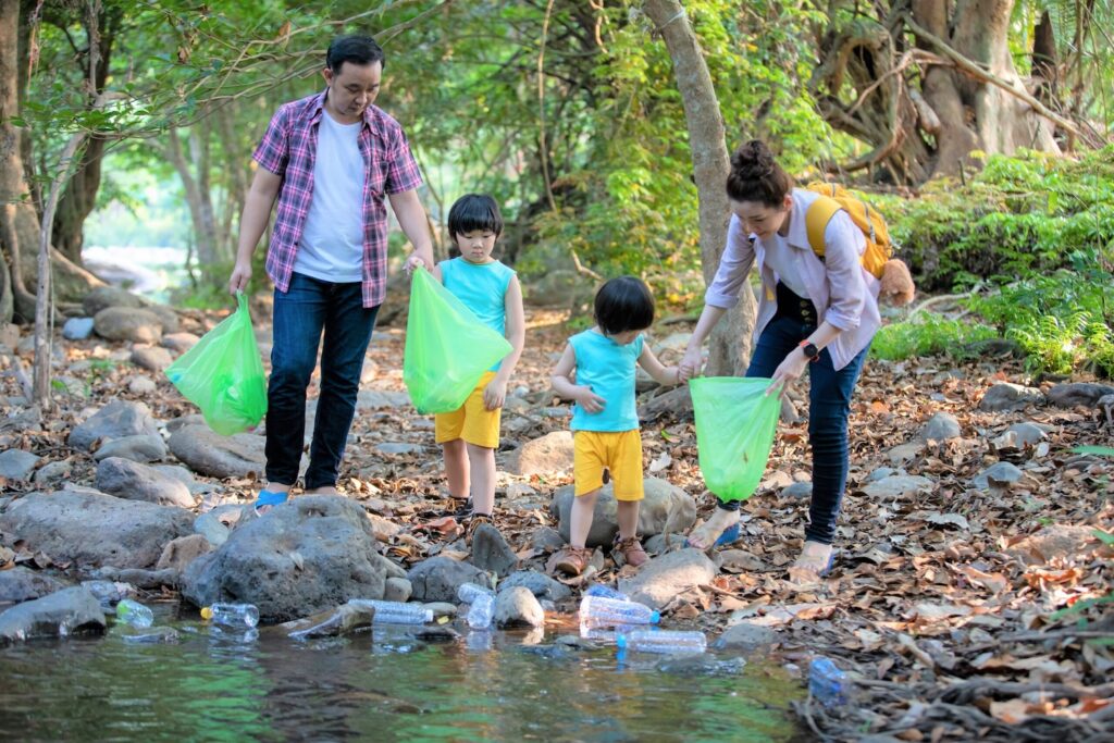
[[[814,317],[814,315],[813,315]],[[812,323],[799,316],[776,315],[759,336],[751,355],[747,377],[772,377],[778,365],[798,344],[815,331]],[[868,345],[847,366],[836,371],[827,349],[820,359],[809,364],[809,444],[812,447],[812,502],[804,538],[832,544],[836,519],[847,486],[848,440],[847,419],[851,413],[851,393],[862,371]],[[720,501],[720,508],[737,510],[739,500]]]

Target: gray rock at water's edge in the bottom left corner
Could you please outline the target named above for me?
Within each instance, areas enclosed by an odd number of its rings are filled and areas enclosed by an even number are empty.
[[[82,586],[17,604],[0,614],[0,645],[102,632],[105,614],[100,603]]]

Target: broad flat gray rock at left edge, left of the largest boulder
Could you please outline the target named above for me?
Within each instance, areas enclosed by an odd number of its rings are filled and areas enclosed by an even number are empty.
[[[0,531],[17,534],[31,551],[78,566],[155,565],[163,546],[193,531],[180,508],[125,500],[88,488],[23,496],[0,515]]]

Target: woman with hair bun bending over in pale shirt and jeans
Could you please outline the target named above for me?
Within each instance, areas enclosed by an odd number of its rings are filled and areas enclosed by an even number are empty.
[[[805,369],[811,380],[812,502],[804,547],[790,575],[814,579],[832,564],[847,483],[851,393],[880,324],[878,281],[860,264],[866,239],[846,212],[837,212],[824,229],[824,258],[813,253],[804,215],[818,195],[794,188],[763,143],[746,143],[732,156],[727,197],[727,245],[681,370],[685,379],[700,374],[701,344],[739,293],[750,291],[746,275],[756,263],[762,296],[746,375],[772,378],[766,394],[781,387],[782,395]],[[714,515],[688,542],[706,549],[737,528],[739,507],[737,500],[717,499]]]

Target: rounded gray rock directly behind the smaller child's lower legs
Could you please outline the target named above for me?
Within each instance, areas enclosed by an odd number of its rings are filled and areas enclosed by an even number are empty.
[[[666,527],[670,531],[684,531],[696,521],[696,504],[681,488],[654,477],[645,478],[643,488],[646,497],[638,511],[638,532],[643,537],[662,534]],[[569,536],[574,492],[571,485],[558,488],[549,506],[550,512],[559,520],[558,530],[566,542]],[[615,487],[614,482],[608,482],[596,498],[587,546],[609,547],[618,530]]]

